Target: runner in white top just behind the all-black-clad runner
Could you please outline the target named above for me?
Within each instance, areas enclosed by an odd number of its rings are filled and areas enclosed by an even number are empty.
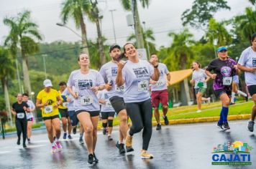
[[[31,132],[32,132],[32,124],[34,121],[34,115],[33,112],[35,110],[35,105],[34,103],[29,100],[29,95],[27,95],[27,93],[22,94],[22,100],[23,102],[26,102],[27,105],[29,105],[29,112],[26,112],[26,116],[27,116],[27,143],[31,143],[30,142],[30,137],[31,137]]]

